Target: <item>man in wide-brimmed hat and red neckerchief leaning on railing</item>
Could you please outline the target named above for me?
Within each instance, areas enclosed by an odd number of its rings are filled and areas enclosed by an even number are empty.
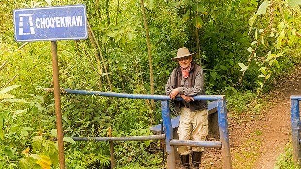
[[[180,112],[178,135],[179,140],[205,141],[208,135],[207,101],[194,100],[192,96],[205,95],[204,72],[201,67],[192,63],[192,57],[186,47],[178,49],[177,57],[171,58],[179,63],[165,86],[166,95],[175,100],[175,108]],[[178,146],[182,169],[189,169],[190,147]],[[191,169],[199,169],[203,147],[192,147]]]

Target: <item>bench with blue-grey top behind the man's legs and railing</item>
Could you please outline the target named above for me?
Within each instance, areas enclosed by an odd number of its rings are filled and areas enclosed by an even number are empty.
[[[179,139],[178,127],[179,127],[180,116],[171,119],[173,139]],[[217,101],[212,101],[208,103],[208,127],[211,137],[219,138],[219,128],[218,128],[218,113],[217,113]],[[154,134],[161,134],[161,124],[151,127],[150,131]],[[177,152],[177,146],[174,146],[175,158],[179,159],[179,154]]]

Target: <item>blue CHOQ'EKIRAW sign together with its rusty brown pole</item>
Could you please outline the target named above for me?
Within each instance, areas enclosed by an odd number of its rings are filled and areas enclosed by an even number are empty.
[[[57,58],[57,40],[88,37],[85,5],[16,9],[13,11],[15,40],[51,41],[54,100],[60,169],[65,169],[61,93]]]

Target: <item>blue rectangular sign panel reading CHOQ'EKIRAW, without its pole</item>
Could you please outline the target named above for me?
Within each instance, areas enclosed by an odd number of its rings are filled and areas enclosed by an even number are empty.
[[[56,41],[88,37],[85,5],[15,9],[16,41]]]

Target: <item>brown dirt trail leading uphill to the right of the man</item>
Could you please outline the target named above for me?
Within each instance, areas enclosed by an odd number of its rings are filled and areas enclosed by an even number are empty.
[[[234,169],[274,168],[277,157],[284,153],[284,147],[291,142],[290,96],[301,95],[300,83],[299,66],[291,76],[275,84],[270,94],[270,104],[261,110],[260,117],[255,115],[239,120],[229,119]],[[220,153],[220,150],[205,150],[203,169],[222,168]]]

